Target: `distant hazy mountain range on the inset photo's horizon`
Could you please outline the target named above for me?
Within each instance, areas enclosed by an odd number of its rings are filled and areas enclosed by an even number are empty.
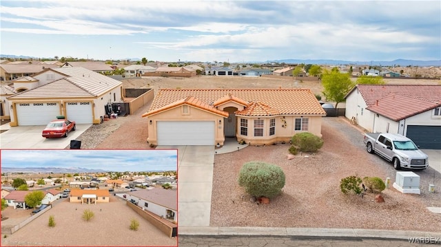
[[[87,169],[83,167],[1,167],[2,173],[102,173],[102,169]]]

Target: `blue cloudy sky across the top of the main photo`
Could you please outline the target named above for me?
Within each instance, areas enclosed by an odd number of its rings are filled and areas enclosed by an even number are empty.
[[[441,59],[435,1],[2,0],[1,54],[95,60]]]

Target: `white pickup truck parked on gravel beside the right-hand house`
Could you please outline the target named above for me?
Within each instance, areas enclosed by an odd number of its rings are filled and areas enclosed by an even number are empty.
[[[377,153],[385,160],[391,161],[396,170],[402,167],[429,167],[429,156],[418,149],[411,139],[398,133],[366,133],[364,142],[368,153]]]

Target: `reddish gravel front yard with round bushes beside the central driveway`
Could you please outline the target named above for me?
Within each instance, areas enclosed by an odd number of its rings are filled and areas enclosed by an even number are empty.
[[[424,189],[432,178],[430,169],[417,172],[421,176],[421,195],[402,194],[390,187],[383,191],[385,202],[381,204],[373,202],[373,193],[364,197],[343,195],[339,187],[342,178],[378,176],[394,181],[395,172],[391,164],[365,151],[362,133],[343,118],[324,118],[322,135],[325,144],[320,151],[315,155],[298,154],[293,160],[287,160],[289,144],[247,147],[216,155],[210,225],[439,232],[441,215],[426,208],[441,206],[439,194]],[[252,160],[276,164],[285,172],[283,193],[269,204],[251,202],[238,186],[240,167]],[[435,179],[440,180],[439,173]]]

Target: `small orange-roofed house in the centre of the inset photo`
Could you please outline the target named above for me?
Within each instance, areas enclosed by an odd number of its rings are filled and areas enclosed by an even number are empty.
[[[69,193],[69,202],[81,204],[96,204],[109,202],[110,193],[106,189],[72,189]]]

